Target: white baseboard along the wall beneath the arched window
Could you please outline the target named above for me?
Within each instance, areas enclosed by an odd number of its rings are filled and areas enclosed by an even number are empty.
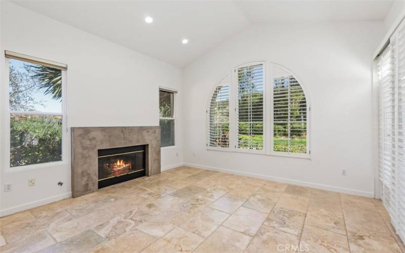
[[[228,170],[226,168],[211,167],[211,166],[193,164],[193,163],[188,163],[188,162],[184,162],[183,165],[190,166],[190,167],[196,167],[196,168],[204,168],[204,169],[210,170],[210,171],[232,173],[232,174],[248,176],[248,177],[252,177],[252,178],[261,178],[261,179],[266,179],[266,180],[271,180],[271,181],[276,181],[276,182],[281,182],[281,183],[301,185],[301,186],[306,186],[306,187],[311,187],[311,188],[316,188],[316,189],[321,189],[321,190],[335,191],[335,192],[340,192],[340,193],[347,193],[347,194],[359,195],[359,196],[363,196],[363,197],[374,198],[374,192],[367,192],[367,191],[360,191],[360,190],[355,190],[355,189],[350,189],[350,188],[310,183],[310,182],[287,179],[287,178],[272,177],[272,176],[256,174],[256,173],[239,172],[239,171],[234,171],[234,170]]]

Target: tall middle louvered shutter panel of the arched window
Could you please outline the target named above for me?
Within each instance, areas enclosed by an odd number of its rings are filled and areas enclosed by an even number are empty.
[[[263,149],[264,65],[237,68],[237,148]]]

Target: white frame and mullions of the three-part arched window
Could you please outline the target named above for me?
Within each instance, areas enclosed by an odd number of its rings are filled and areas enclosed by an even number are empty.
[[[238,85],[238,78],[237,78],[237,69],[243,68],[251,65],[263,64],[263,149],[262,150],[252,150],[252,149],[243,149],[237,147],[237,85]],[[274,66],[281,68],[282,70],[287,71],[290,73],[300,84],[301,89],[305,94],[306,100],[306,113],[307,113],[307,120],[306,120],[306,141],[307,141],[307,153],[293,153],[293,152],[281,152],[281,151],[274,151],[274,125],[273,125],[273,68]],[[291,158],[304,158],[304,159],[311,159],[311,146],[310,146],[310,139],[311,139],[311,103],[309,93],[301,81],[301,79],[290,69],[287,67],[262,60],[262,61],[250,61],[244,64],[237,65],[236,67],[232,68],[231,70],[231,80],[229,83],[229,147],[211,147],[209,145],[209,108],[210,108],[210,101],[213,95],[214,90],[216,87],[221,85],[221,82],[228,76],[221,78],[219,82],[212,88],[210,92],[210,96],[207,102],[207,110],[206,110],[206,145],[207,150],[214,150],[214,151],[227,151],[227,152],[238,152],[238,153],[252,153],[252,154],[263,154],[263,155],[270,155],[270,156],[282,156],[282,157],[291,157]]]

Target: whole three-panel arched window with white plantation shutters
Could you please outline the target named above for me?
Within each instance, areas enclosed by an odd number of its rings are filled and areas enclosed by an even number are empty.
[[[211,93],[208,149],[309,158],[309,98],[289,69],[266,61],[232,70]]]

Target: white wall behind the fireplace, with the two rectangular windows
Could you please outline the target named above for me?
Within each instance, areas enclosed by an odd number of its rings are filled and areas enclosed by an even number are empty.
[[[178,145],[161,150],[161,166],[164,169],[181,164],[181,69],[12,3],[2,1],[1,9],[2,52],[9,50],[68,65],[69,128],[158,125],[158,87],[177,89]],[[3,53],[1,57],[4,61]],[[2,98],[8,93],[4,79]],[[113,99],[117,97],[120,99]],[[70,163],[5,173],[4,131],[1,133],[1,215],[70,196]],[[36,179],[35,187],[28,188],[29,178]],[[62,187],[57,185],[59,181],[64,182]],[[5,183],[12,183],[13,191],[4,192]]]

